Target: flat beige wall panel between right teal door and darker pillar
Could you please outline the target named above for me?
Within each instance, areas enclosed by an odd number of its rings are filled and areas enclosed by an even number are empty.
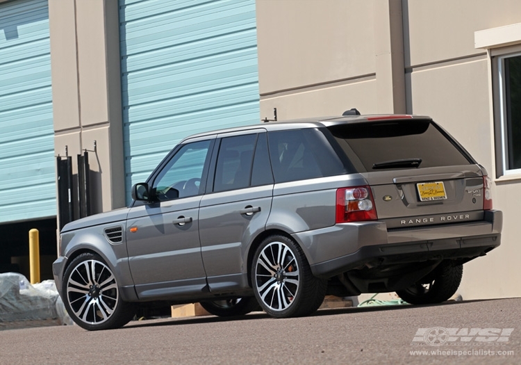
[[[256,1],[261,117],[273,108],[288,119],[374,105],[372,8],[373,1]]]

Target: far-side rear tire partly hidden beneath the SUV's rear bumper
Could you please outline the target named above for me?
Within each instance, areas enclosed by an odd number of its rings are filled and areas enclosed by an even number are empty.
[[[396,293],[413,305],[445,302],[458,290],[461,277],[463,277],[463,265],[444,261],[420,282]]]

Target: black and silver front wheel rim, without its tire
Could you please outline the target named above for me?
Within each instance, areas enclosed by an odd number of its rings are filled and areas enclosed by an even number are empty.
[[[66,293],[72,314],[89,325],[108,321],[118,304],[116,278],[105,263],[81,261],[67,277]]]

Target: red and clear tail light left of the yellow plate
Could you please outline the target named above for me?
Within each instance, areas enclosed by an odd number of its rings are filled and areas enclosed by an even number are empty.
[[[377,209],[374,207],[369,186],[354,186],[336,190],[337,223],[377,219]]]

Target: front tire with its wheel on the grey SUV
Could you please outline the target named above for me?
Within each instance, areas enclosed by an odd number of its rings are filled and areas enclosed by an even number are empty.
[[[98,254],[80,254],[63,277],[63,303],[72,320],[85,330],[126,325],[136,307],[124,302],[114,273]]]

